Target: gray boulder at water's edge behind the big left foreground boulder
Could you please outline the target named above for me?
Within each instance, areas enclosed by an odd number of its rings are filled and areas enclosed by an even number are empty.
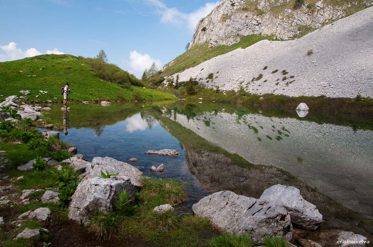
[[[99,177],[101,171],[109,171],[110,174],[118,173],[118,176],[131,178],[131,183],[137,188],[141,187],[142,172],[130,164],[115,160],[110,157],[94,157],[92,165],[87,167],[88,175],[84,179]]]

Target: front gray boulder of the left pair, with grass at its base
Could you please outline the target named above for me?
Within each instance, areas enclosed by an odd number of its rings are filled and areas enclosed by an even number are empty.
[[[128,195],[131,195],[130,199],[134,201],[136,188],[132,185],[129,177],[84,179],[79,183],[72,196],[68,217],[86,225],[95,211],[99,210],[105,214],[110,214],[113,212],[113,203],[116,202],[115,196],[121,193],[123,189]]]

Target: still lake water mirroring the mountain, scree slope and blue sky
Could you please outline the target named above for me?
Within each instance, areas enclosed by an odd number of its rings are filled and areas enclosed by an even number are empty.
[[[62,122],[59,106],[46,116]],[[150,175],[189,182],[190,210],[220,190],[258,198],[275,184],[300,189],[324,216],[323,229],[353,231],[372,239],[373,125],[370,120],[329,118],[207,103],[73,105],[68,135],[88,160],[138,158]],[[350,127],[352,126],[352,127]],[[177,158],[143,154],[176,149]]]

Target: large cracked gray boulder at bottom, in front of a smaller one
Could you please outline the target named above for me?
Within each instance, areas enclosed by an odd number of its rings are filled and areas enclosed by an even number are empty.
[[[254,241],[262,241],[264,235],[292,238],[290,215],[285,208],[228,190],[206,196],[194,204],[192,210],[208,218],[219,230],[247,232]]]

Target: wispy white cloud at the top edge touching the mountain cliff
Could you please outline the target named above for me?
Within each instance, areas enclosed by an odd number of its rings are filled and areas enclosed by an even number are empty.
[[[183,23],[186,22],[188,28],[193,31],[198,21],[207,16],[211,10],[216,7],[220,1],[214,3],[206,3],[204,6],[193,11],[192,13],[182,13],[176,8],[168,8],[159,0],[145,0],[147,3],[156,7],[157,13],[162,15],[161,22],[163,23]]]

